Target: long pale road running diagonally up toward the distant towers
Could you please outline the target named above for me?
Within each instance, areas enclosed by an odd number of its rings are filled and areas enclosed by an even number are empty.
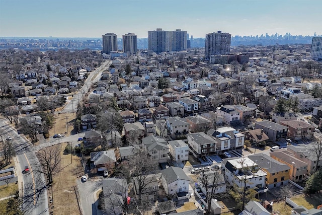
[[[72,100],[65,105],[61,113],[76,113],[78,102],[81,101],[84,95],[89,92],[91,84],[100,80],[103,70],[109,68],[110,65],[112,65],[112,61],[106,60],[100,67],[95,69],[95,71],[92,71],[86,79],[82,89],[72,97]]]

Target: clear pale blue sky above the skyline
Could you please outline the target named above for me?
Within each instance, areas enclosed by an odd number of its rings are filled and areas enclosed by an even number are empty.
[[[0,0],[0,37],[322,35],[321,0]]]

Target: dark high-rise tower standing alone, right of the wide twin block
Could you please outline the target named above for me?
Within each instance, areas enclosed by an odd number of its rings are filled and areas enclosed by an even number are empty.
[[[206,34],[205,59],[211,55],[229,54],[231,34],[217,33]]]

